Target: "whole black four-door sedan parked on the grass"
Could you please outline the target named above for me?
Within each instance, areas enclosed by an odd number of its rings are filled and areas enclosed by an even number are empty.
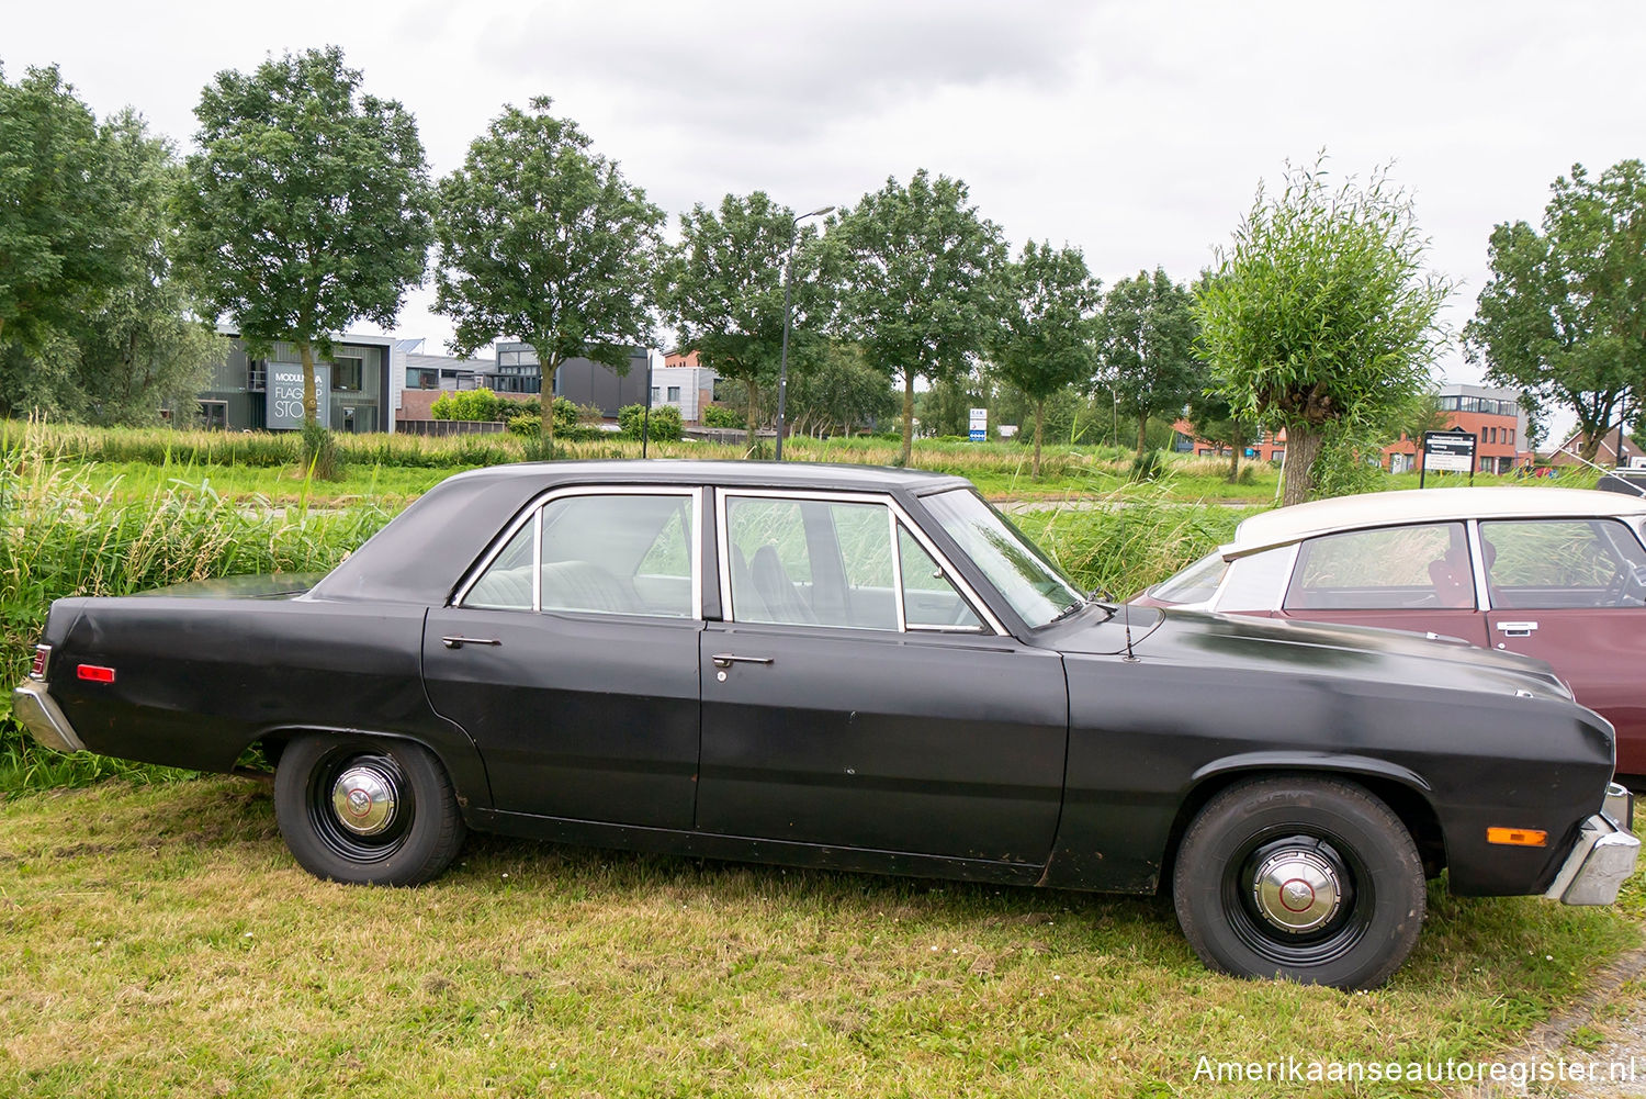
[[[1605,905],[1638,850],[1611,727],[1547,666],[1116,608],[902,470],[464,473],[313,587],[59,600],[15,704],[59,750],[260,746],[337,882],[426,882],[472,827],[1169,890],[1207,964],[1345,989],[1401,966],[1442,868]]]

